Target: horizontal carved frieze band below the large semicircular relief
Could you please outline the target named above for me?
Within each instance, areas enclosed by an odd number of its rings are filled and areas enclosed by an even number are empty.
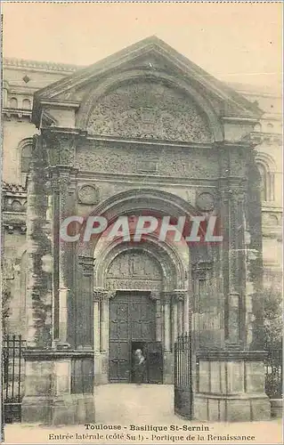
[[[82,145],[77,149],[76,166],[87,172],[153,174],[191,179],[215,179],[219,174],[214,150],[189,152],[167,149],[163,145],[149,150],[149,147],[134,143],[114,146],[107,142],[95,142],[93,145]]]

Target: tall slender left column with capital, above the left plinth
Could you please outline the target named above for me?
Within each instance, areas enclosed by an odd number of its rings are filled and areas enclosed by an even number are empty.
[[[76,132],[64,133],[56,128],[42,132],[52,189],[53,341],[56,347],[75,344],[76,246],[61,239],[60,230],[64,219],[77,212],[76,136]]]

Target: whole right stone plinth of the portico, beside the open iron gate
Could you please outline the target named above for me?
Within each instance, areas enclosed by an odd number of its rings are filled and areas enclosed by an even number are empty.
[[[199,352],[193,417],[212,422],[269,419],[263,360],[264,352]]]

